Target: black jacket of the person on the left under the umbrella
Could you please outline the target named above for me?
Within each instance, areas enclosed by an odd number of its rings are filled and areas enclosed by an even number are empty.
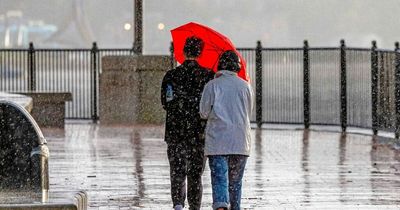
[[[205,121],[200,119],[199,103],[204,86],[214,78],[212,70],[201,67],[197,61],[186,60],[169,70],[161,85],[161,103],[167,112],[165,141],[177,143],[194,139],[204,141]],[[167,101],[167,86],[173,91]]]

